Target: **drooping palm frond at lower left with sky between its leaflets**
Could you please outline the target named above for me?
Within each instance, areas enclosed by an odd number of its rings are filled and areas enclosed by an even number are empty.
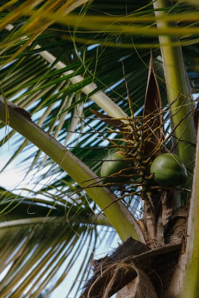
[[[3,188],[0,193],[1,210],[6,213],[6,206],[11,209],[5,215],[1,212],[0,216],[2,297],[37,297],[46,288],[52,292],[70,270],[77,268],[77,262],[80,266],[77,275],[84,282],[88,278],[88,263],[96,249],[99,234],[96,224],[110,225],[106,218],[100,215],[95,222],[96,215],[92,215],[90,208],[83,204],[81,212],[80,205],[67,202],[66,206],[63,200],[55,204],[49,201],[48,196],[45,200],[32,200]],[[28,210],[31,214],[27,213]],[[46,217],[49,211],[50,216]],[[90,226],[92,223],[94,225]],[[72,281],[70,283],[72,291],[74,285]],[[77,291],[81,285],[78,285]]]

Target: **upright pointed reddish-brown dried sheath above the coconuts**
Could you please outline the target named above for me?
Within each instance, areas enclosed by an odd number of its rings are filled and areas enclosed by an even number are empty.
[[[150,130],[145,132],[144,139],[146,139],[147,136],[151,134],[154,129],[156,129],[162,124],[162,115],[158,115],[161,112],[162,103],[160,97],[160,90],[158,86],[158,80],[156,77],[155,62],[151,52],[143,116],[146,117],[147,115],[153,114],[152,116],[149,116],[153,119],[151,120],[151,123],[148,124],[148,127],[146,127],[146,129],[150,128]],[[157,117],[154,118],[155,115],[157,115]],[[149,117],[147,117],[146,120],[148,120]],[[146,143],[145,145],[146,154],[150,153],[153,149],[156,148],[156,146],[159,144],[159,140],[161,137],[163,137],[162,129],[157,130],[152,135],[150,142]]]

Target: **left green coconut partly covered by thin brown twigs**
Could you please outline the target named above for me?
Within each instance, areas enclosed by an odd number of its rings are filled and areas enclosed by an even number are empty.
[[[120,154],[120,151],[111,153],[106,156],[106,160],[104,161],[101,167],[101,177],[108,177],[112,174],[118,173],[120,170],[127,169],[131,166],[132,162],[129,160],[117,160],[117,159],[124,159],[126,156]],[[120,175],[130,175],[135,173],[133,169],[129,169],[128,171],[123,171]],[[130,177],[108,177],[102,180],[102,184],[105,183],[119,183],[119,182],[126,182]]]

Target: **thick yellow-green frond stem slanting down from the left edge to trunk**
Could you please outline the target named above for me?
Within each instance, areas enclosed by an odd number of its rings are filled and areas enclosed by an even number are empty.
[[[88,166],[32,122],[30,115],[25,110],[10,102],[8,102],[8,108],[10,127],[51,157],[79,185],[85,188],[100,209],[104,209],[105,216],[113,225],[122,241],[132,236],[134,239],[144,242],[139,226],[123,203],[118,201],[112,204],[117,200],[117,197],[109,189],[101,187],[89,188],[91,182],[85,181],[93,179],[97,183],[100,182],[100,178]],[[5,105],[3,98],[0,97],[0,120],[5,122],[5,118]],[[106,208],[108,205],[109,207]]]

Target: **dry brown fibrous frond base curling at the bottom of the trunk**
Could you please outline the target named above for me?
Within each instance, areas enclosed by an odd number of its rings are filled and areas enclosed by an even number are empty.
[[[94,275],[81,298],[158,298],[167,289],[182,244],[149,247],[128,238],[109,256],[93,262]]]

